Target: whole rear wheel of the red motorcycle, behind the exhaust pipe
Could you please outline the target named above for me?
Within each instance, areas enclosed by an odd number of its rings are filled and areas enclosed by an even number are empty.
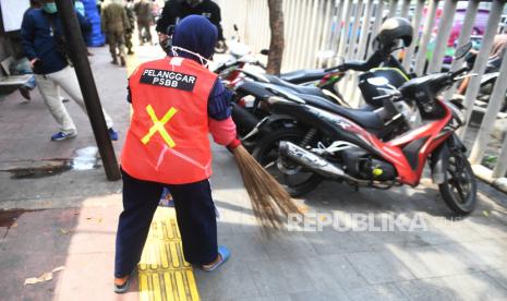
[[[323,178],[315,172],[305,171],[292,161],[279,155],[280,141],[299,144],[305,132],[297,128],[274,130],[256,144],[253,157],[289,192],[299,196],[314,190]]]

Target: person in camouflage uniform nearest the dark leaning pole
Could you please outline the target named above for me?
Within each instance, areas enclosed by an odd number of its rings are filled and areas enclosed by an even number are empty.
[[[109,0],[102,4],[101,29],[106,34],[111,52],[111,63],[118,64],[118,52],[120,63],[125,65],[125,38],[124,34],[130,29],[129,20],[121,0]]]

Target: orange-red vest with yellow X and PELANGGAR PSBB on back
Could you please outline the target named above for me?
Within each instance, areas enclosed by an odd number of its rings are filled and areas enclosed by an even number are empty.
[[[185,184],[212,176],[207,103],[217,75],[197,62],[165,58],[129,79],[134,113],[121,166],[146,181]]]

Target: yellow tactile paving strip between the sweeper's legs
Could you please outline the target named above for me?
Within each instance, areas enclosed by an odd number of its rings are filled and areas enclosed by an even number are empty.
[[[200,300],[192,266],[184,261],[173,208],[158,207],[138,265],[140,299]]]

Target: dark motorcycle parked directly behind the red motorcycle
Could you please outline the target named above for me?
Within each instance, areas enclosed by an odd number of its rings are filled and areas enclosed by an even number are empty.
[[[258,137],[257,133],[286,127],[283,123],[288,118],[271,116],[269,107],[264,105],[263,100],[270,96],[291,95],[289,97],[302,98],[309,105],[335,112],[340,112],[342,108],[350,108],[351,106],[342,100],[342,97],[336,97],[328,91],[336,87],[336,82],[343,77],[348,70],[364,72],[359,76],[359,88],[366,104],[361,110],[373,113],[374,110],[383,107],[383,101],[375,99],[381,94],[379,86],[372,85],[370,80],[383,79],[383,88],[398,87],[409,80],[405,69],[391,55],[396,47],[394,44],[389,45],[375,51],[366,61],[346,62],[333,70],[329,69],[329,77],[325,76],[321,86],[294,85],[268,74],[257,74],[258,81],[243,81],[237,84],[232,118],[244,144],[253,147]],[[378,68],[379,64],[383,67]],[[244,73],[250,74],[250,72]],[[290,118],[289,122],[291,122]],[[381,130],[377,131],[377,133],[381,132]]]

